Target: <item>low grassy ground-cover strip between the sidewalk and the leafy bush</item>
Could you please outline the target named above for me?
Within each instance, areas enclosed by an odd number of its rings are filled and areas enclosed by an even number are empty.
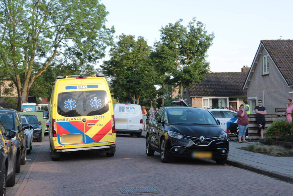
[[[241,150],[263,153],[270,156],[293,156],[293,149],[288,150],[282,146],[264,145],[261,143],[251,143],[246,147],[239,148]]]

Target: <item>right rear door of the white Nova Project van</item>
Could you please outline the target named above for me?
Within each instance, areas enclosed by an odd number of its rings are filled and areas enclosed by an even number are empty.
[[[139,105],[125,105],[125,109],[128,113],[128,130],[137,130],[142,129],[142,124],[140,120],[142,119],[142,112]]]

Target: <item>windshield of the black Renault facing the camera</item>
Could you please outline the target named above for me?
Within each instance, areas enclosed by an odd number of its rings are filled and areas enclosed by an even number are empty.
[[[168,109],[167,114],[169,123],[217,125],[217,122],[212,114],[206,110],[174,108]]]

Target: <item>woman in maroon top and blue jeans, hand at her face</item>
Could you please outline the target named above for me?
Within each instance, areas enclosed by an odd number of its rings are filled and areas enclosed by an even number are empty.
[[[242,143],[242,142],[248,142],[245,140],[245,132],[246,132],[246,129],[248,127],[248,116],[247,116],[247,113],[246,111],[244,110],[244,105],[241,104],[240,105],[240,110],[238,110],[237,112],[237,124],[238,124],[238,127],[239,127],[239,143]],[[242,140],[241,141],[241,137],[242,137]]]

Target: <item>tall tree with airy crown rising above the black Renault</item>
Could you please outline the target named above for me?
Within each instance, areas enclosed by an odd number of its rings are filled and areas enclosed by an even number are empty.
[[[166,76],[163,80],[168,80],[171,75],[169,79],[173,85],[180,86],[181,96],[183,87],[204,80],[202,75],[209,68],[206,53],[214,38],[214,34],[207,34],[205,25],[196,22],[195,18],[187,27],[181,24],[182,21],[162,27],[160,41],[155,43],[156,56],[165,60],[157,61],[162,67],[161,75]]]

